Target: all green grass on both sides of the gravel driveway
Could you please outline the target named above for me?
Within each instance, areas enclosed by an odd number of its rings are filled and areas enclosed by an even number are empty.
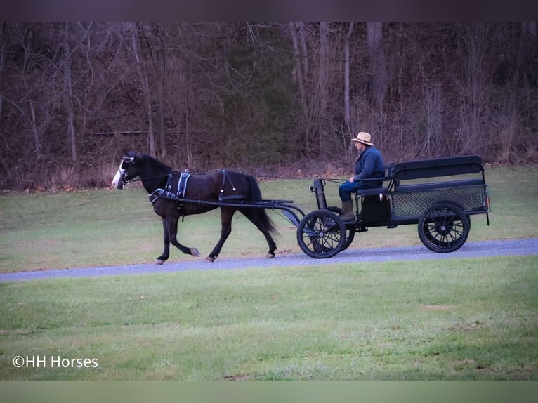
[[[473,218],[469,240],[536,237],[537,179],[534,167],[488,169],[491,225]],[[308,185],[261,182],[266,199],[304,211]],[[336,184],[327,198],[338,204]],[[273,219],[280,253],[299,252],[294,227]],[[147,263],[162,250],[139,188],[5,194],[0,226],[0,272]],[[180,230],[209,253],[218,213]],[[409,225],[351,247],[411,244]],[[219,258],[265,251],[237,215]],[[0,379],[538,380],[537,256],[327,263],[0,283]]]

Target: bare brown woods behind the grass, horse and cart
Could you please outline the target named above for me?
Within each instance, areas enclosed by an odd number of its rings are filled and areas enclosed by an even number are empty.
[[[103,186],[123,150],[178,169],[538,158],[535,22],[2,23],[0,187]]]

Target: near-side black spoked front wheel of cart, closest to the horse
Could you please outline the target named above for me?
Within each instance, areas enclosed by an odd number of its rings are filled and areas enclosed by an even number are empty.
[[[332,258],[346,241],[343,221],[327,210],[308,213],[297,227],[297,242],[311,258]]]

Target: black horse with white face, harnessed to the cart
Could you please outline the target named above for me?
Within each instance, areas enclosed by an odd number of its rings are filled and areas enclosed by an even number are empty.
[[[180,244],[176,238],[178,232],[178,220],[181,216],[206,213],[219,207],[222,200],[261,200],[261,191],[253,176],[228,170],[215,171],[207,175],[188,175],[181,179],[181,173],[173,171],[171,167],[163,164],[147,154],[129,152],[124,155],[122,163],[112,180],[112,187],[122,189],[125,183],[139,177],[142,185],[150,197],[155,213],[162,217],[164,228],[164,251],[155,261],[162,265],[170,256],[170,243],[183,253],[199,256],[196,248],[188,248]],[[158,189],[164,190],[164,192]],[[170,192],[169,192],[170,190]],[[185,202],[181,197],[176,197],[177,192],[186,199],[197,199],[202,202]],[[165,197],[162,197],[162,196]],[[207,204],[203,201],[214,201],[216,204]],[[275,226],[267,212],[259,207],[220,206],[221,208],[221,238],[218,239],[213,251],[207,256],[207,260],[214,261],[221,252],[224,242],[232,232],[232,217],[239,210],[260,230],[267,240],[269,251],[267,258],[275,257],[277,246],[271,234]]]

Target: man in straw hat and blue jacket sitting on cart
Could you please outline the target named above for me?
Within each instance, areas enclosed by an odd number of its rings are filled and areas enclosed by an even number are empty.
[[[383,186],[385,177],[385,162],[381,157],[381,152],[370,142],[372,136],[365,131],[357,134],[351,141],[359,152],[359,157],[355,161],[355,175],[349,178],[339,187],[339,195],[342,200],[343,214],[341,219],[344,223],[354,223],[355,213],[353,212],[353,201],[351,193],[360,193],[361,189],[372,189]],[[379,180],[367,180],[368,178],[380,178]]]

